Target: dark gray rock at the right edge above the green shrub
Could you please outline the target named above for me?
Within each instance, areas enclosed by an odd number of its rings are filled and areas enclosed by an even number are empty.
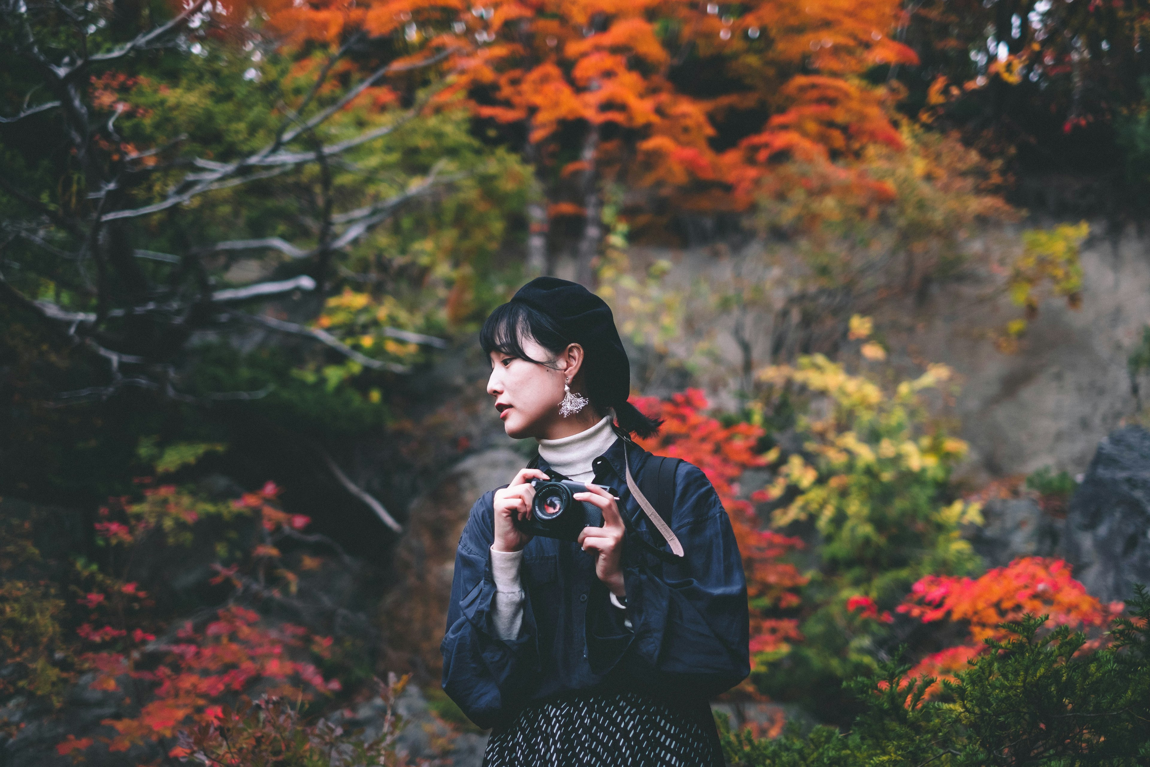
[[[1098,444],[1071,499],[1064,551],[1074,576],[1102,600],[1150,584],[1150,431],[1117,429]]]

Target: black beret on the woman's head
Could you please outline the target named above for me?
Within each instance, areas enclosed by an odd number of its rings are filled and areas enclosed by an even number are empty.
[[[547,315],[572,343],[583,347],[586,391],[576,393],[611,407],[627,401],[631,366],[606,301],[583,285],[558,277],[536,277],[511,300]]]

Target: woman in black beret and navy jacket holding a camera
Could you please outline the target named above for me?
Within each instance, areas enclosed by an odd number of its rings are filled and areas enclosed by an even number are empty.
[[[750,631],[719,496],[682,462],[669,519],[639,498],[650,453],[630,435],[659,423],[627,401],[627,354],[586,289],[531,281],[492,312],[481,343],[504,430],[539,446],[475,503],[455,555],[443,688],[493,728],[483,764],[720,767],[707,701],[750,673]],[[573,498],[597,506],[603,527],[575,542],[521,529],[531,481],[549,477],[589,483]]]

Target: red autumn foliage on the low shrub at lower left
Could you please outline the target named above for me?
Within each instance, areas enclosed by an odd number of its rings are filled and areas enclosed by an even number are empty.
[[[283,565],[278,546],[310,520],[281,511],[277,493],[269,482],[260,492],[212,504],[160,485],[147,488],[137,503],[117,499],[100,511],[97,540],[109,550],[109,565],[80,565],[87,590],[76,604],[86,620],[76,635],[78,665],[91,674],[89,688],[117,693],[130,712],[102,722],[114,731],[99,738],[108,751],[150,743],[170,747],[187,727],[217,722],[222,706],[241,693],[258,690],[299,701],[340,689],[315,666],[329,657],[330,637],[290,622],[269,623],[243,599],[245,592],[258,603],[293,591],[297,576]],[[141,546],[189,543],[192,526],[205,514],[252,520],[253,545],[215,566],[212,583],[231,584],[230,600],[168,626],[152,596],[126,580],[128,562]],[[69,737],[57,751],[80,757],[92,744],[91,737]]]

